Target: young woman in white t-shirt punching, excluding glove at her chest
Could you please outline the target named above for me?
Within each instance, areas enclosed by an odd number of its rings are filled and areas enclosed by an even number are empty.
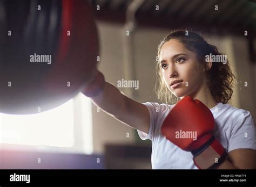
[[[161,41],[158,46],[157,95],[166,104],[138,103],[105,82],[100,72],[84,94],[114,118],[136,128],[140,138],[152,140],[153,169],[201,169],[193,161],[192,152],[177,146],[179,143],[169,141],[161,133],[168,114],[179,104],[167,104],[173,100],[173,95],[181,99],[180,102],[185,96],[200,100],[211,111],[215,123],[213,135],[227,152],[214,169],[256,169],[256,133],[252,116],[248,111],[226,104],[232,96],[234,76],[225,56],[219,58],[223,61],[216,61],[206,60],[207,55],[217,57],[222,54],[195,32],[173,31]],[[183,115],[184,118],[190,116]],[[172,126],[172,120],[169,122]],[[177,141],[184,143],[182,139]],[[207,158],[204,157],[206,162]]]

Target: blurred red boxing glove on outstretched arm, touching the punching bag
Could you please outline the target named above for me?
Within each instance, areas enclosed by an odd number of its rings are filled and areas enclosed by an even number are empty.
[[[82,93],[84,93],[84,95],[87,97],[95,97],[104,90],[104,86],[104,75],[97,70],[95,78],[93,78],[93,80],[88,85],[86,85],[85,89],[82,90]]]

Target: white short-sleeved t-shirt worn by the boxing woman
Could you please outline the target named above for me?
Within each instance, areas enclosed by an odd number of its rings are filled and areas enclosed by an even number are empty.
[[[198,169],[191,152],[186,152],[161,134],[161,125],[174,105],[143,103],[150,112],[149,134],[138,130],[142,140],[152,141],[152,169]],[[256,149],[256,128],[251,113],[229,104],[210,109],[215,119],[215,138],[231,152],[239,148]]]

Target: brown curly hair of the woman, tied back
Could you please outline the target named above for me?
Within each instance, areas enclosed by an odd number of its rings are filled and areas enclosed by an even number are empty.
[[[174,104],[178,101],[177,97],[173,98],[173,94],[166,87],[161,73],[161,64],[159,62],[161,47],[165,42],[176,39],[183,44],[189,51],[196,53],[199,63],[206,67],[205,56],[209,55],[222,55],[216,46],[208,44],[203,37],[198,33],[188,30],[175,30],[167,34],[166,37],[158,45],[157,52],[157,82],[155,91],[157,97],[161,102],[167,104]],[[206,71],[207,84],[211,91],[211,94],[217,103],[227,103],[231,98],[233,90],[233,83],[235,76],[232,73],[230,65],[228,63],[212,63],[211,69]]]

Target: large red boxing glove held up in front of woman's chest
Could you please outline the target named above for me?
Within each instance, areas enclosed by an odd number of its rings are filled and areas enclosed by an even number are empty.
[[[190,151],[199,169],[210,169],[223,162],[227,155],[214,138],[214,124],[208,107],[186,96],[167,115],[161,133],[181,149]]]

